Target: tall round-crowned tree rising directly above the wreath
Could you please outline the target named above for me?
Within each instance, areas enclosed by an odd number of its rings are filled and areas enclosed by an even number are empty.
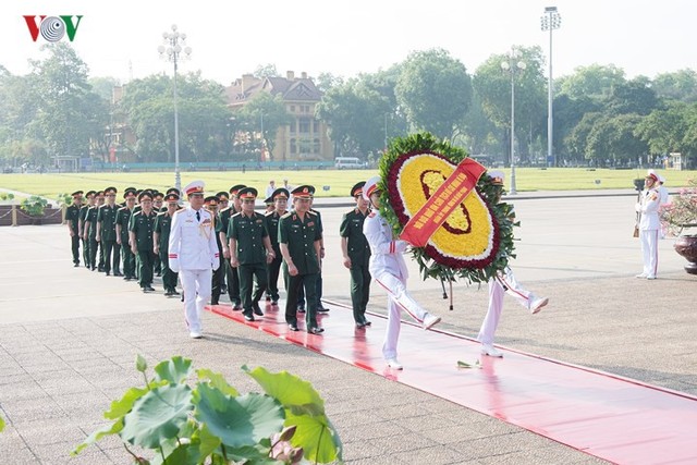
[[[394,94],[411,131],[452,139],[469,109],[472,81],[448,51],[416,51],[402,63]]]

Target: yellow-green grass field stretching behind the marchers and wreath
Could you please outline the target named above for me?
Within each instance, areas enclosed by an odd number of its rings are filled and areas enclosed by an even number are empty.
[[[510,182],[511,170],[506,174]],[[686,186],[689,179],[697,178],[697,171],[657,170],[667,179],[669,188]],[[256,187],[260,197],[266,193],[270,180],[277,186],[288,179],[291,185],[311,184],[318,197],[347,197],[351,187],[358,181],[376,175],[376,170],[319,170],[319,171],[200,171],[182,172],[182,186],[194,180],[206,182],[206,192],[215,194],[228,191],[235,184]],[[574,168],[518,168],[516,185],[519,192],[530,191],[578,191],[634,188],[633,180],[644,178],[646,170],[595,170]],[[122,193],[124,188],[157,188],[164,192],[174,184],[173,173],[64,173],[64,174],[0,174],[0,188],[40,195],[56,199],[60,194],[74,191],[103,189],[114,186]],[[329,189],[325,191],[323,187]]]

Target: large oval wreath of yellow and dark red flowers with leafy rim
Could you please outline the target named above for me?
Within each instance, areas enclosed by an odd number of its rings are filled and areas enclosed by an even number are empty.
[[[394,138],[380,160],[381,208],[395,235],[467,158],[465,150],[431,134]],[[412,247],[421,276],[441,281],[486,282],[513,254],[512,206],[501,186],[484,174],[473,191],[433,232],[424,247]]]

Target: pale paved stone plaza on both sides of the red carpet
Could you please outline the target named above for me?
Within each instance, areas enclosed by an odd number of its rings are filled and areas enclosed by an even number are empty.
[[[522,228],[512,268],[550,305],[533,317],[506,299],[497,343],[697,395],[697,277],[683,271],[667,238],[659,244],[659,279],[634,278],[641,270],[632,237],[635,195],[587,194],[514,199]],[[337,203],[317,201],[327,229],[323,289],[326,298],[347,303],[338,231],[346,207]],[[129,463],[113,440],[76,458],[68,453],[103,425],[112,400],[142,382],[136,354],[150,365],[191,357],[241,391],[256,390],[240,370],[245,364],[307,379],[325,397],[350,464],[602,463],[211,314],[204,317],[206,339],[189,340],[179,299],[163,297],[157,285],[157,293],[144,295],[132,282],[73,268],[69,245],[65,227],[0,228],[2,464]],[[442,328],[474,338],[486,313],[486,285],[456,284],[449,311],[440,283],[421,282],[412,270],[409,289],[443,317]],[[370,310],[384,307],[376,286]],[[453,364],[457,358],[453,354]],[[409,369],[408,359],[402,363]]]

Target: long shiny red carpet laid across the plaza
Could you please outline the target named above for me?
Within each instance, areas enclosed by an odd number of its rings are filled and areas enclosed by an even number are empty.
[[[283,306],[254,322],[227,305],[208,309],[610,462],[697,463],[697,397],[502,347],[504,358],[480,356],[476,341],[411,323],[402,325],[398,371],[382,360],[383,317],[356,330],[348,308],[325,305],[322,335],[289,331]],[[481,369],[456,368],[477,359]]]

